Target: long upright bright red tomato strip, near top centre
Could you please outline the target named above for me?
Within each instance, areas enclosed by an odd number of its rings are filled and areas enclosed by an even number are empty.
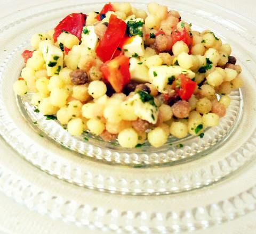
[[[117,47],[122,43],[126,29],[126,23],[111,14],[108,28],[104,36],[100,39],[96,48],[96,54],[103,61],[111,60]]]

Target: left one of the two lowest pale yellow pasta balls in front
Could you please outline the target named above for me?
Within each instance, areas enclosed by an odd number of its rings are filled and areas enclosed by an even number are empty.
[[[133,128],[126,128],[119,132],[118,143],[125,148],[133,148],[138,144],[138,133]]]

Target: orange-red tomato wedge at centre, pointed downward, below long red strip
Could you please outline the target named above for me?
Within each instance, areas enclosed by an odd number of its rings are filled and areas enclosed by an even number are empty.
[[[109,60],[101,65],[103,77],[117,93],[121,93],[124,86],[130,82],[129,57],[119,55],[113,60]]]

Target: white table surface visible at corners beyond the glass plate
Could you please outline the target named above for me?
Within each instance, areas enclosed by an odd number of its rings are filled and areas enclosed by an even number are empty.
[[[88,0],[83,0],[84,2]],[[33,5],[47,4],[53,0],[0,0],[0,22],[6,15],[13,14]],[[54,2],[61,2],[55,0]],[[256,2],[254,0],[207,0],[231,11],[256,21]],[[228,17],[228,15],[227,15]],[[0,153],[4,151],[0,141]],[[245,215],[240,219],[231,221],[211,229],[196,231],[194,233],[220,233],[220,234],[251,234],[256,233],[256,212]],[[11,198],[0,193],[0,233],[96,233],[88,229],[76,227],[74,224],[52,220],[35,211],[29,211],[25,206],[17,204]]]

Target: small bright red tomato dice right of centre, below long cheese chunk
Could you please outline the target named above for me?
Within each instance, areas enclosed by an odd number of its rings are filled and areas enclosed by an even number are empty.
[[[181,85],[180,89],[177,90],[177,93],[182,100],[188,101],[192,94],[194,94],[197,83],[186,77],[185,74],[180,74],[179,78],[181,79]]]

